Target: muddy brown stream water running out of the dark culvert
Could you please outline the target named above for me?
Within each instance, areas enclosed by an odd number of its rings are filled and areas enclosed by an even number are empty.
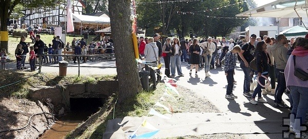
[[[96,112],[96,111],[94,111]],[[39,138],[59,139],[64,138],[70,131],[76,128],[78,124],[86,121],[88,117],[94,113],[93,111],[73,111],[65,117],[59,118],[59,121],[55,121],[55,124],[47,130]]]

